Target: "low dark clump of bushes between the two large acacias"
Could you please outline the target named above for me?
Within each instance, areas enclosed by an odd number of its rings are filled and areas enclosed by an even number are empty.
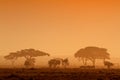
[[[48,61],[48,65],[50,68],[59,68],[62,65],[63,68],[66,68],[69,65],[68,58],[54,58]]]

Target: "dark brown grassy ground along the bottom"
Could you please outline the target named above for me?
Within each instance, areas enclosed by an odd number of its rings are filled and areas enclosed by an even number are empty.
[[[120,70],[0,69],[0,80],[120,80]]]

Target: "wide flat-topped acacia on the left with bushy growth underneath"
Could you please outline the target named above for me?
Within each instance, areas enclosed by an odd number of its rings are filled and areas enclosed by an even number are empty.
[[[10,53],[9,55],[4,56],[4,58],[7,60],[11,60],[12,64],[14,64],[17,58],[24,57],[26,59],[24,65],[28,68],[28,67],[34,66],[35,57],[46,56],[46,55],[50,56],[50,54],[39,51],[39,50],[24,49],[21,51]]]

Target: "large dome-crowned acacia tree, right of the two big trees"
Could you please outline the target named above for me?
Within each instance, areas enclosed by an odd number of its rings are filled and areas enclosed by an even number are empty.
[[[78,50],[75,55],[76,58],[81,59],[84,65],[87,65],[87,61],[90,60],[95,66],[96,59],[110,59],[110,55],[105,48],[99,47],[86,47]]]

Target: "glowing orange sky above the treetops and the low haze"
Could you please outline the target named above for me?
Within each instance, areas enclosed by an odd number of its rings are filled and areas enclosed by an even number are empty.
[[[0,55],[35,48],[73,56],[86,46],[120,57],[119,0],[0,0]]]

